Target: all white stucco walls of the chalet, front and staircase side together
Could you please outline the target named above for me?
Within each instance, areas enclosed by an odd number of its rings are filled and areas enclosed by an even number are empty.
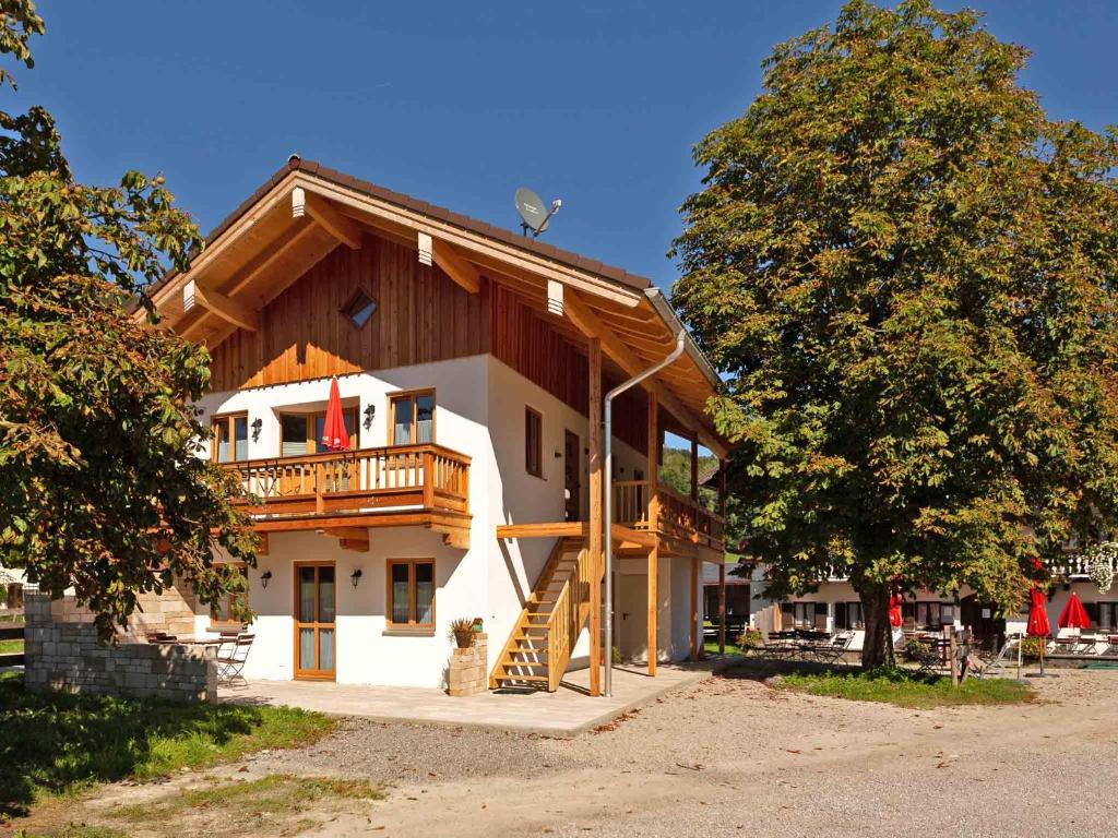
[[[262,556],[249,573],[249,604],[258,617],[253,626],[256,639],[246,676],[277,679],[293,676],[293,565],[295,561],[307,560],[337,563],[338,682],[440,686],[451,649],[448,623],[458,617],[484,620],[492,668],[553,546],[548,539],[499,542],[495,526],[563,520],[566,430],[579,437],[580,515],[587,516],[586,417],[491,355],[343,375],[338,383],[343,403],[358,408],[360,448],[377,448],[388,442],[390,393],[435,389],[436,441],[471,457],[471,547],[468,551],[447,547],[439,535],[421,527],[370,530],[368,553],[343,551],[335,539],[314,532],[272,533],[268,555]],[[276,457],[281,413],[325,409],[328,384],[326,380],[316,380],[210,393],[199,402],[201,419],[208,422],[215,415],[247,412],[249,426],[260,420],[258,437],[253,439],[249,434],[248,457]],[[370,404],[376,412],[366,428],[364,411]],[[542,416],[542,477],[530,475],[524,468],[525,406]],[[633,479],[636,469],[647,470],[643,454],[615,439],[615,478]],[[428,556],[436,562],[434,636],[400,637],[386,632],[386,562]],[[685,560],[661,559],[661,659],[685,657],[689,650],[689,566]],[[350,584],[354,568],[362,570],[357,589]],[[642,574],[639,582],[624,592],[618,589],[624,596],[618,608],[643,615],[647,608],[643,575],[646,562],[641,560],[633,568]],[[265,590],[259,579],[266,571],[272,572],[272,579]],[[202,610],[199,609],[196,620],[199,634],[209,629],[209,617]],[[638,634],[639,651],[645,654],[643,626]],[[588,653],[588,636],[584,631],[572,665],[585,665]]]

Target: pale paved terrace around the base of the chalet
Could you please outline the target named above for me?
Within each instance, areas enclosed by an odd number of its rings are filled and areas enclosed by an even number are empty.
[[[568,673],[562,686],[555,693],[506,691],[452,698],[440,689],[421,687],[250,680],[222,687],[218,699],[238,704],[286,704],[330,715],[361,716],[381,722],[466,725],[574,736],[606,724],[667,692],[709,678],[739,659],[728,656],[700,664],[660,666],[655,678],[634,667],[615,667],[614,694],[609,698],[591,698],[586,694],[589,670],[581,669]]]

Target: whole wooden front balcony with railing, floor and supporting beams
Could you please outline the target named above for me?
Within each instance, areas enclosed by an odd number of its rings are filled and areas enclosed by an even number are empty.
[[[468,545],[470,458],[438,445],[224,463],[258,532],[427,526]]]

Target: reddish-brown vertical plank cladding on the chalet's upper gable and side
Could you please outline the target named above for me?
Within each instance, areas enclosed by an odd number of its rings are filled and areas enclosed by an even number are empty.
[[[341,308],[358,291],[377,303],[363,328]],[[519,294],[483,274],[470,294],[415,249],[366,232],[361,248],[335,247],[265,304],[255,332],[234,331],[212,355],[214,391],[271,387],[361,371],[492,353],[532,383],[587,416],[586,347]],[[603,390],[622,380],[603,373]],[[615,436],[647,448],[642,390],[615,402]]]

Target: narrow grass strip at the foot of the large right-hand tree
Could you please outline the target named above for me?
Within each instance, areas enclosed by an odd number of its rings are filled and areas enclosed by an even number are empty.
[[[950,707],[974,704],[1021,704],[1033,699],[1026,684],[1007,678],[977,680],[967,678],[957,689],[941,675],[918,676],[903,669],[874,673],[835,673],[786,675],[776,682],[779,689],[808,695],[849,698],[855,702],[884,702],[899,707]]]

